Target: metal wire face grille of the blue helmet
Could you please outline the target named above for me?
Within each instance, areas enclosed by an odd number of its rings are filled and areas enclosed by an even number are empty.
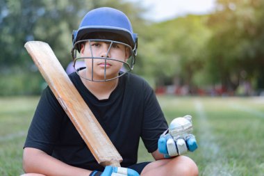
[[[91,43],[100,43],[103,42],[107,44],[108,49],[106,51],[106,54],[104,56],[101,56],[100,54],[97,54],[96,51],[92,48]],[[85,45],[89,45],[89,56],[81,56],[81,54],[78,54],[77,51],[79,51],[79,47],[76,47],[76,45],[80,45],[81,43],[85,43]],[[110,52],[111,48],[115,47],[116,45],[122,45],[125,49],[129,50],[129,58],[114,58],[111,57]],[[88,49],[88,50],[89,50]],[[130,45],[127,45],[123,42],[117,42],[113,40],[99,40],[99,39],[90,39],[90,40],[79,40],[74,44],[74,47],[72,49],[72,56],[74,58],[74,70],[76,70],[76,73],[79,74],[80,77],[83,79],[89,80],[89,81],[111,81],[113,79],[117,79],[118,77],[122,77],[127,72],[131,72],[133,70],[133,65],[135,64],[135,50],[131,48]],[[76,68],[76,63],[79,61],[85,61],[86,67]],[[101,75],[101,77],[96,77],[96,68],[97,63],[101,63],[101,65],[104,65],[104,75]],[[119,70],[119,74],[110,74],[110,71],[107,67],[107,65],[122,65],[121,69]],[[82,76],[83,74],[80,74],[80,71],[86,69],[86,72],[88,74],[85,74],[85,76]]]

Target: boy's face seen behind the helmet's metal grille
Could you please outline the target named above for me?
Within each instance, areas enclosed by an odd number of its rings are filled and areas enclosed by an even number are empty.
[[[86,76],[92,79],[117,77],[123,63],[129,58],[129,48],[119,42],[90,40],[81,45],[85,59]],[[114,59],[114,60],[112,60]]]

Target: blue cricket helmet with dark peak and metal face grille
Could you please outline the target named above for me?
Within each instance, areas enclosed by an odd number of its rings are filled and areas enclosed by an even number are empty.
[[[89,43],[90,45],[92,41],[108,42],[110,44],[106,56],[94,54],[91,46],[89,56],[83,57],[83,54],[78,53],[81,51],[81,45],[83,43]],[[83,17],[79,29],[73,31],[72,43],[74,69],[83,79],[90,81],[110,81],[122,77],[122,75],[133,70],[135,56],[137,55],[138,35],[133,33],[129,18],[120,10],[108,7],[90,10]],[[124,45],[126,49],[129,49],[129,58],[120,59],[115,58],[115,56],[109,56],[111,47],[116,44]],[[85,61],[85,72],[88,72],[85,77],[82,76],[83,74],[80,74],[83,68],[76,69],[75,67],[79,61]],[[104,70],[101,69],[101,72],[104,72],[103,77],[97,77],[99,75],[97,74],[98,67],[95,64],[98,62],[100,62],[101,68],[104,68]],[[113,76],[114,74],[110,73],[109,67],[112,66],[110,63],[113,63],[113,65],[122,65],[119,74],[115,72],[115,76]],[[115,71],[118,72],[119,66],[116,68],[117,70]]]

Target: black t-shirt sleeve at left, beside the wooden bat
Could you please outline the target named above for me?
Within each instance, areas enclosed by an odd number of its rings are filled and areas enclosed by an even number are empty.
[[[47,87],[33,115],[24,147],[33,147],[52,154],[64,114],[51,89]]]

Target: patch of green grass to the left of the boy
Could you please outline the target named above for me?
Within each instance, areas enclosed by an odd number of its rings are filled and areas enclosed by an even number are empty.
[[[20,175],[26,133],[38,97],[0,98],[0,175]]]

